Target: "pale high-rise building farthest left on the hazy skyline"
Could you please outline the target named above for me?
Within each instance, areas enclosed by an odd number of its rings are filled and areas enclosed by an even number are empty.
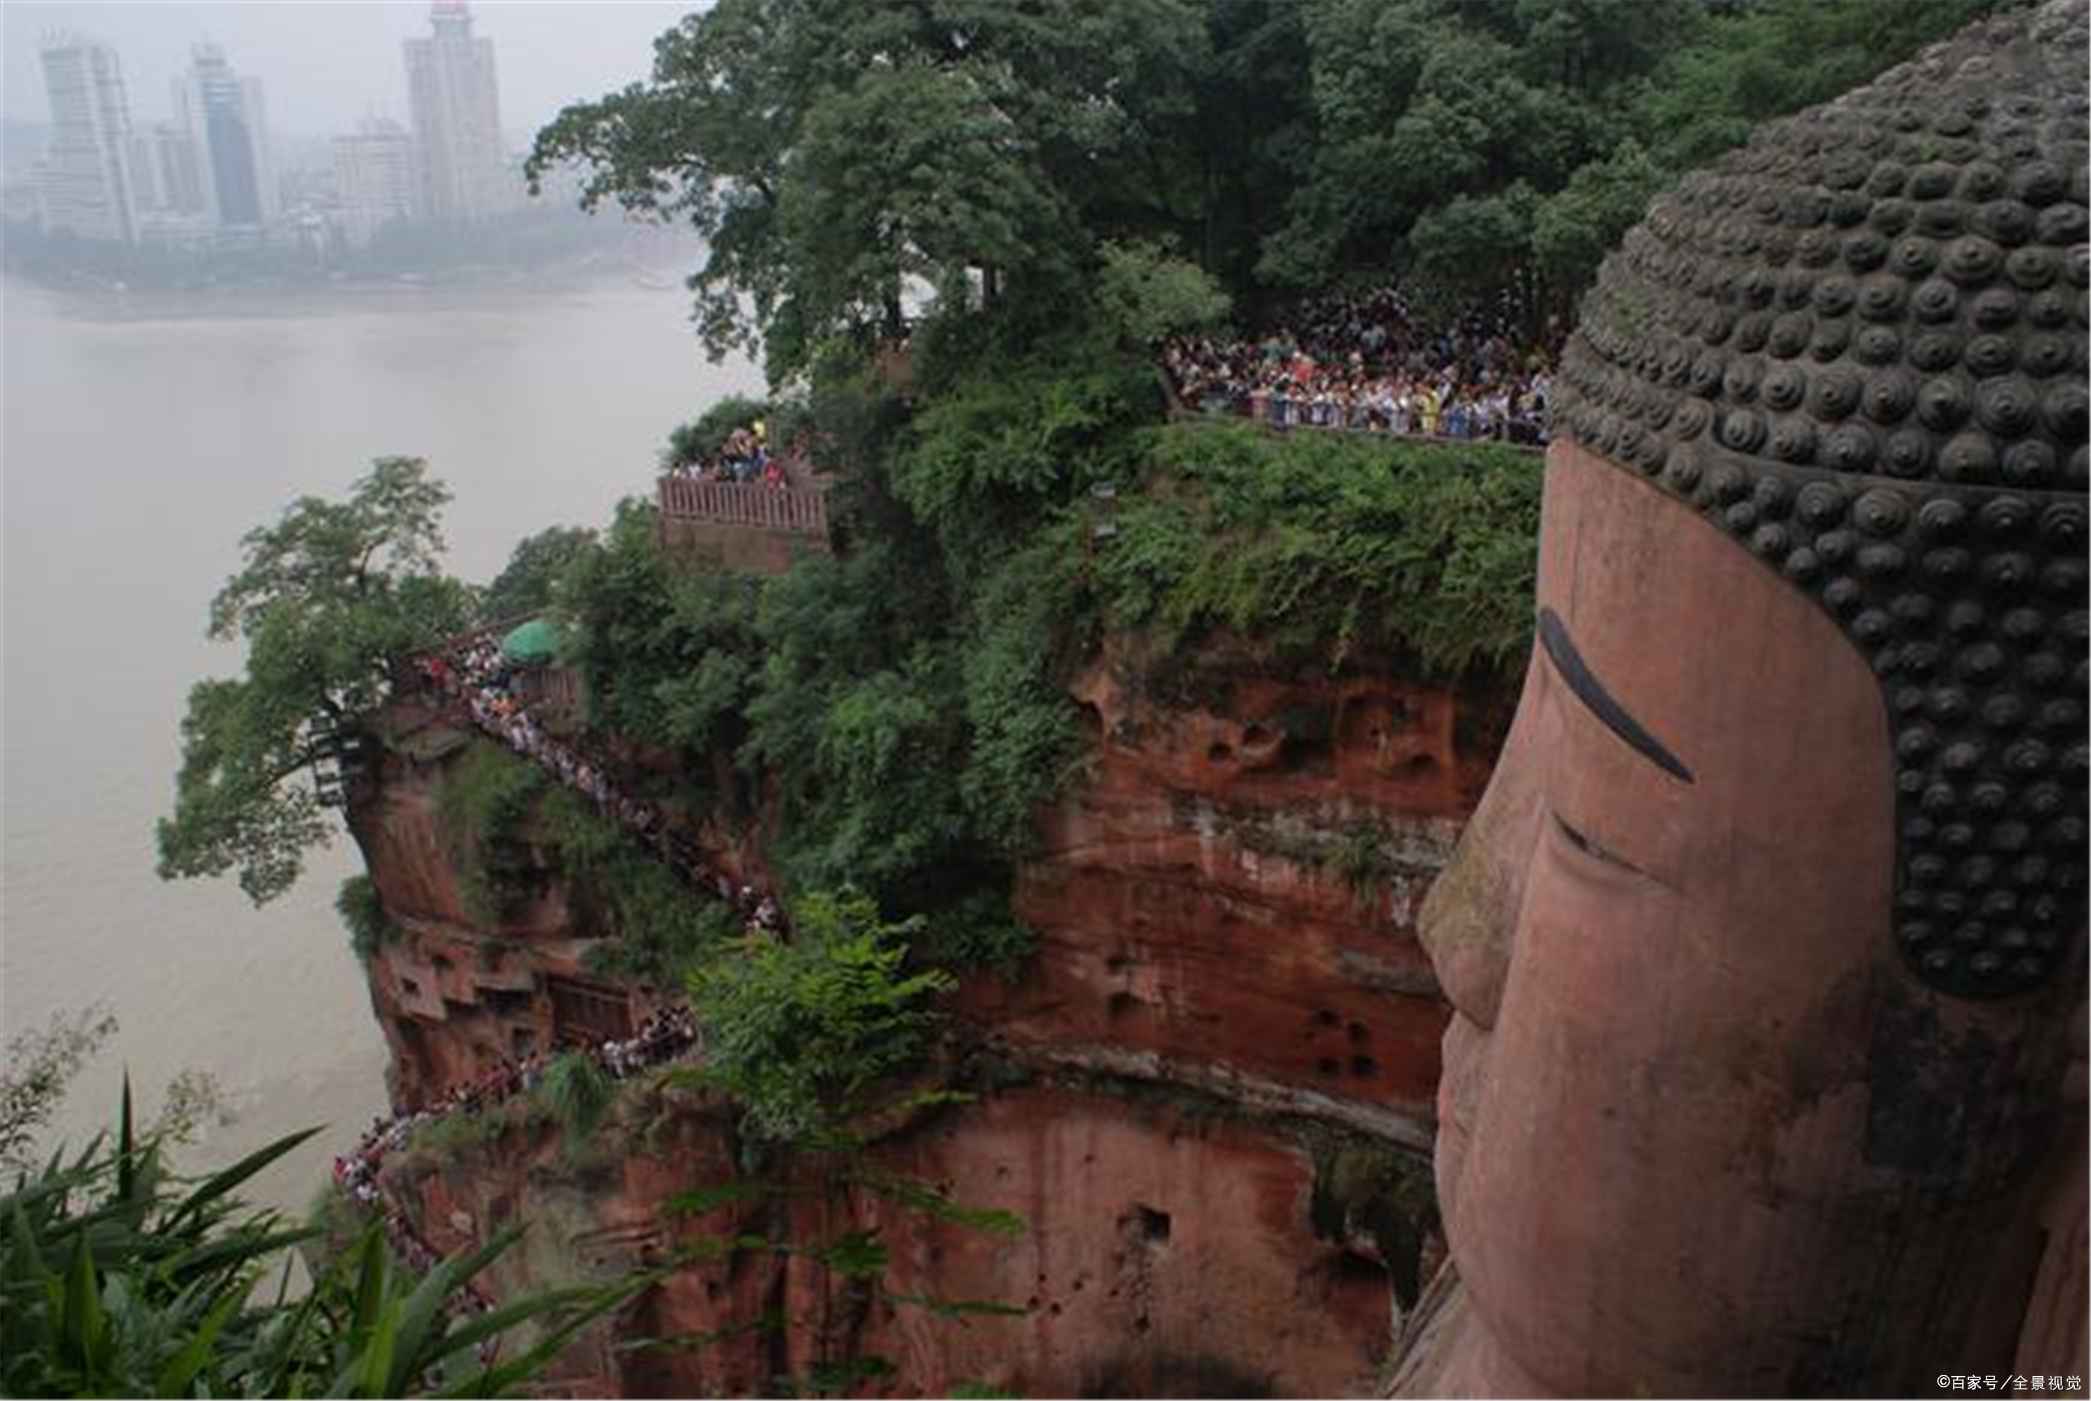
[[[44,40],[44,92],[50,98],[50,155],[44,161],[44,224],[82,238],[132,243],[138,205],[132,188],[130,107],[123,65],[107,44],[71,33]]]

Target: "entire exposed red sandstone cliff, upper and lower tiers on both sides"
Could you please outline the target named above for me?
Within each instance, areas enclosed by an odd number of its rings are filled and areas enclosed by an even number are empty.
[[[1039,956],[1014,985],[979,974],[953,1000],[951,1056],[976,1098],[872,1148],[897,1177],[1016,1213],[1022,1234],[937,1223],[861,1190],[671,1217],[680,1192],[744,1181],[746,1154],[726,1106],[648,1085],[621,1096],[579,1158],[512,1106],[473,1142],[387,1165],[439,1250],[533,1223],[493,1271],[496,1294],[657,1265],[705,1236],[878,1230],[884,1292],[1022,1315],[960,1326],[918,1307],[849,1309],[803,1259],[744,1253],[669,1273],[569,1351],[558,1386],[774,1391],[818,1357],[811,1330],[740,1328],[769,1309],[826,1317],[834,1349],[893,1361],[897,1395],[1374,1386],[1441,1250],[1428,1140],[1445,1014],[1414,914],[1487,782],[1508,696],[1393,673],[1273,677],[1215,657],[1167,690],[1106,659],[1079,698],[1094,772],[1043,816],[1016,891]],[[596,931],[556,874],[498,918],[483,908],[443,830],[454,738],[414,736],[353,809],[401,926],[370,985],[408,1104],[550,1050],[575,1018],[617,1014],[594,995],[625,997],[631,1018],[650,1008],[648,989],[588,977]]]

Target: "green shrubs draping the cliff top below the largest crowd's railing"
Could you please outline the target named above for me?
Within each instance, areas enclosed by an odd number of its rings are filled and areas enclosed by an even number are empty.
[[[1227,631],[1332,665],[1368,648],[1439,677],[1531,646],[1537,454],[1175,422],[1142,491],[1100,504],[1092,588],[1163,652]]]

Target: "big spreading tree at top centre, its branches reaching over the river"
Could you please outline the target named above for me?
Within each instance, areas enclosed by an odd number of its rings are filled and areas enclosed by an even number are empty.
[[[822,341],[899,332],[910,286],[1046,314],[1094,247],[1154,232],[1184,184],[1207,52],[1190,0],[723,0],[654,46],[650,82],[569,107],[531,169],[583,203],[688,220],[696,320],[772,376]]]

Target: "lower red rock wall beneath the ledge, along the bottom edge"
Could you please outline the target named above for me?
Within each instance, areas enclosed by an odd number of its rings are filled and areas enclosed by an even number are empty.
[[[893,1248],[884,1296],[1020,1309],[941,1317],[918,1305],[851,1305],[803,1257],[746,1250],[682,1269],[611,1328],[571,1349],[554,1384],[573,1395],[774,1393],[820,1361],[882,1357],[887,1391],[949,1395],[987,1384],[1018,1395],[1361,1395],[1391,1330],[1388,1273],[1372,1219],[1391,1202],[1349,1198],[1355,1138],[1230,1112],[1207,1100],[1033,1081],[943,1110],[868,1152],[889,1175],[947,1190],[966,1207],[1014,1211],[999,1236],[935,1223],[851,1190],[784,1204],[734,1202],[698,1217],[661,1207],[696,1186],[746,1181],[728,1108],[692,1096],[625,1106],[598,1146],[571,1158],[523,1117],[443,1154],[408,1154],[387,1186],[418,1207],[437,1250],[462,1250],[512,1221],[525,1244],[500,1261],[498,1294],[548,1280],[611,1280],[707,1240],[799,1244],[872,1230]],[[769,1179],[807,1188],[776,1163]],[[1349,1209],[1349,1211],[1347,1211]],[[751,1330],[765,1309],[795,1324]],[[705,1347],[619,1351],[638,1336]]]

